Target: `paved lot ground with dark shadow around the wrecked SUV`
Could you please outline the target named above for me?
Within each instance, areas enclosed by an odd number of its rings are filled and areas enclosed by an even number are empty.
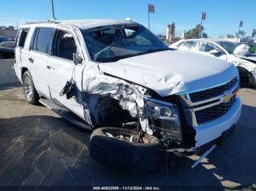
[[[90,132],[44,106],[31,106],[18,85],[0,87],[0,185],[220,186],[256,189],[256,91],[241,89],[244,102],[236,133],[203,163],[180,157],[167,174],[115,171],[89,157]],[[232,189],[232,190],[233,190]]]

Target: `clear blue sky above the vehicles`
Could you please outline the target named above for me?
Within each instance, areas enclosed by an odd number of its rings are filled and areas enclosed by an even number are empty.
[[[53,0],[57,20],[116,19],[130,17],[148,26],[148,3],[154,4],[150,14],[151,31],[166,34],[167,24],[176,23],[176,35],[200,23],[201,12],[206,12],[203,26],[208,36],[216,38],[235,35],[239,20],[246,35],[256,28],[256,0]],[[6,9],[4,9],[6,7]],[[51,0],[1,0],[0,26],[18,26],[26,21],[52,18]]]

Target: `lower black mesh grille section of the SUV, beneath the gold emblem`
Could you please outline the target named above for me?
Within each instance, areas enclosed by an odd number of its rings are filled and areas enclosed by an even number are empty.
[[[200,125],[222,117],[222,115],[226,114],[227,111],[231,108],[235,100],[236,95],[234,95],[233,98],[231,98],[227,103],[218,104],[216,106],[211,106],[206,109],[196,111],[195,118],[197,120],[197,124]]]

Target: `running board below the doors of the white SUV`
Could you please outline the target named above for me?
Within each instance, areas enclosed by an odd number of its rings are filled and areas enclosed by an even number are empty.
[[[76,116],[72,112],[69,112],[69,110],[65,109],[64,107],[54,104],[52,101],[45,98],[40,98],[39,102],[42,105],[47,106],[53,112],[55,112],[56,114],[59,114],[59,116],[63,117],[65,120],[71,122],[72,124],[80,128],[92,130],[91,126],[88,125],[84,120],[80,119],[80,117]]]

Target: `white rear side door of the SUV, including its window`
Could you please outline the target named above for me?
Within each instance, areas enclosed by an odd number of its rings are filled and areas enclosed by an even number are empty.
[[[33,77],[34,85],[40,95],[50,98],[48,88],[48,74],[50,64],[48,62],[53,47],[55,28],[36,28],[31,40],[28,56],[29,71]]]

